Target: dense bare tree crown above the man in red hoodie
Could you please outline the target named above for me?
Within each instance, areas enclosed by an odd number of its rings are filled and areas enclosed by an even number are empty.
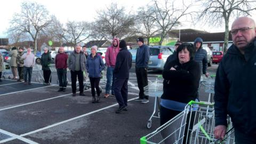
[[[115,37],[121,39],[134,32],[133,15],[125,14],[125,8],[116,3],[111,3],[106,10],[98,11],[98,18],[95,23],[96,25],[100,23],[100,30],[110,39]]]

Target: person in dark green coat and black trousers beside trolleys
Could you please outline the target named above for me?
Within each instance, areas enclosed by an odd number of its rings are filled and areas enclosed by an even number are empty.
[[[41,57],[41,63],[42,63],[42,70],[44,75],[44,83],[50,85],[52,78],[51,78],[51,69],[49,65],[52,60],[52,57],[47,47],[44,47],[43,50],[44,50],[44,53],[42,54],[42,57]]]

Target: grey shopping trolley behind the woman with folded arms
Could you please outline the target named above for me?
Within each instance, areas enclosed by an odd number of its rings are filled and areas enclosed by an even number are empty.
[[[152,117],[159,118],[160,117],[160,111],[159,111],[159,97],[163,94],[163,77],[158,76],[156,78],[156,81],[151,83],[150,85],[147,85],[144,87],[144,94],[148,95],[149,97],[155,97],[155,103],[154,103],[154,111],[153,114],[150,116],[147,122],[147,128],[150,129],[152,125]],[[157,116],[155,116],[156,113],[156,105],[158,103],[158,113]]]

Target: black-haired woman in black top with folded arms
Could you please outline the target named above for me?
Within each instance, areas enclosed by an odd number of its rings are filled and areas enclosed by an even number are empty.
[[[199,64],[193,60],[194,53],[195,47],[193,44],[181,44],[177,49],[177,59],[167,63],[163,70],[163,95],[160,108],[161,125],[181,113],[190,100],[196,100],[197,98],[201,73]],[[186,143],[187,130],[188,123],[185,127],[183,143]]]

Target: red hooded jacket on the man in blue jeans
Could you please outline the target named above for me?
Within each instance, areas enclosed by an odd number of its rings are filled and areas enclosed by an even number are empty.
[[[114,46],[114,41],[117,41],[117,47]],[[119,39],[114,38],[112,41],[112,45],[108,47],[105,54],[105,61],[107,67],[115,67],[116,65],[116,57],[119,52]]]

